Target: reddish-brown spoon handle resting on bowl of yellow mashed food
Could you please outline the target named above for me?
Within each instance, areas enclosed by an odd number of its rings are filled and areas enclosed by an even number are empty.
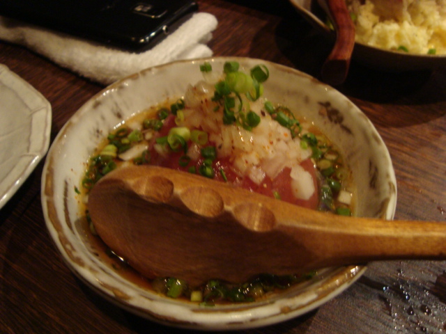
[[[332,52],[323,64],[322,79],[336,86],[342,84],[348,74],[355,45],[355,26],[345,0],[325,0],[324,4],[328,7],[337,34]]]

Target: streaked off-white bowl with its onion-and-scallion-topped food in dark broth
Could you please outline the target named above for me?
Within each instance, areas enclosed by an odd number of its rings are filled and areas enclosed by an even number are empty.
[[[43,173],[45,221],[68,267],[93,290],[180,328],[286,321],[343,292],[366,267],[259,273],[238,283],[152,277],[107,244],[89,216],[95,182],[129,165],[194,173],[328,215],[392,219],[396,206],[392,161],[374,126],[307,74],[222,57],[151,67],[117,81],[86,102],[52,144]]]

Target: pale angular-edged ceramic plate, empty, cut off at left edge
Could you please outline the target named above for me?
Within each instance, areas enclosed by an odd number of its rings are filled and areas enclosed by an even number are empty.
[[[0,64],[0,209],[48,150],[51,106],[45,97]]]

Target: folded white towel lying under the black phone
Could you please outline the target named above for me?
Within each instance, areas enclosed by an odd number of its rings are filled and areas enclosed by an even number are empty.
[[[212,56],[206,45],[217,27],[209,13],[195,13],[159,44],[139,54],[114,49],[0,16],[0,39],[23,45],[100,84],[154,65]]]

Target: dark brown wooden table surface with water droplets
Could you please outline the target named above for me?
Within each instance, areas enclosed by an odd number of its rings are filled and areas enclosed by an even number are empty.
[[[198,2],[219,21],[209,42],[215,56],[263,58],[318,77],[330,42],[286,1]],[[52,139],[103,88],[3,42],[0,63],[52,104]],[[385,73],[352,63],[338,89],[370,118],[390,150],[398,182],[395,218],[445,221],[446,69]],[[117,308],[70,272],[45,228],[42,169],[43,162],[0,210],[0,333],[186,333]],[[307,315],[242,332],[443,331],[446,262],[395,261],[371,263],[346,292]]]

